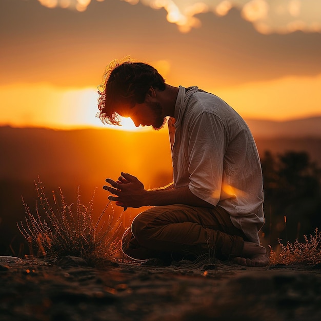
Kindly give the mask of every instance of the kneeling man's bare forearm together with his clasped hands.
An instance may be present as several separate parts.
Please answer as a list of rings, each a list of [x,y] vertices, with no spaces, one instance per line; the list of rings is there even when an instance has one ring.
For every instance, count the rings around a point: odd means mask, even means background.
[[[172,204],[186,204],[199,207],[213,207],[213,205],[205,202],[195,196],[188,186],[171,189],[145,190],[144,185],[137,177],[130,174],[122,173],[127,180],[127,184],[117,183],[107,178],[106,182],[110,186],[104,186],[104,189],[113,194],[108,198],[115,200],[124,208],[141,207],[141,206],[160,206]]]

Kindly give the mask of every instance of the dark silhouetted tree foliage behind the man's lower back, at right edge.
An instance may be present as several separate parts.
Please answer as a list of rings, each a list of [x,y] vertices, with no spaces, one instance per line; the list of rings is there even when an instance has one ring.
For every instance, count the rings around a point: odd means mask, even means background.
[[[321,169],[306,152],[287,151],[261,160],[266,225],[271,245],[295,240],[321,227]]]

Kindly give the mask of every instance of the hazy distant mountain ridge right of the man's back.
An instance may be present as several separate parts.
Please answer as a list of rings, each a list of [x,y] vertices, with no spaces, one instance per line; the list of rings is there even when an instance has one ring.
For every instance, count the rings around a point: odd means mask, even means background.
[[[250,118],[246,118],[245,121],[250,127],[254,137],[321,138],[321,116],[300,118],[283,122]]]

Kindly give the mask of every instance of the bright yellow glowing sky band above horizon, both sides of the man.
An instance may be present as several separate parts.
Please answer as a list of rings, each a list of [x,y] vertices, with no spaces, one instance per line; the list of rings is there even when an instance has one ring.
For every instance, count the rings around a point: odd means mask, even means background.
[[[173,84],[169,62],[158,61],[152,65],[166,75],[169,84]],[[285,121],[320,115],[321,74],[220,88],[211,88],[210,79],[202,79],[202,82],[208,85],[205,87],[200,84],[200,88],[224,99],[246,119]],[[97,97],[96,88],[64,88],[46,84],[0,86],[0,101],[5,107],[0,114],[0,126],[56,129],[101,127],[122,131],[152,131],[150,127],[136,128],[129,118],[123,119],[123,126],[104,125],[96,117]]]

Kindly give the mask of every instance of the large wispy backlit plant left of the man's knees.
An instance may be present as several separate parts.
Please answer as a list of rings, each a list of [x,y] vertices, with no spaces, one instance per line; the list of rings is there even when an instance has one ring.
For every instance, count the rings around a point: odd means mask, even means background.
[[[80,200],[79,187],[77,202],[74,206],[66,204],[62,190],[59,189],[60,205],[53,195],[55,208],[52,208],[46,197],[42,182],[35,183],[37,191],[36,215],[30,212],[28,205],[23,200],[26,210],[25,223],[17,223],[19,231],[28,240],[29,249],[35,245],[38,255],[48,255],[59,258],[65,255],[79,256],[94,260],[111,259],[120,251],[119,234],[121,232],[121,216],[114,222],[114,212],[108,214],[103,220],[110,202],[99,215],[97,222],[92,219],[93,198],[89,206],[85,207]],[[75,212],[72,212],[75,208]],[[45,217],[42,216],[43,212]],[[107,215],[107,214],[106,214]],[[33,255],[32,252],[30,252]]]

